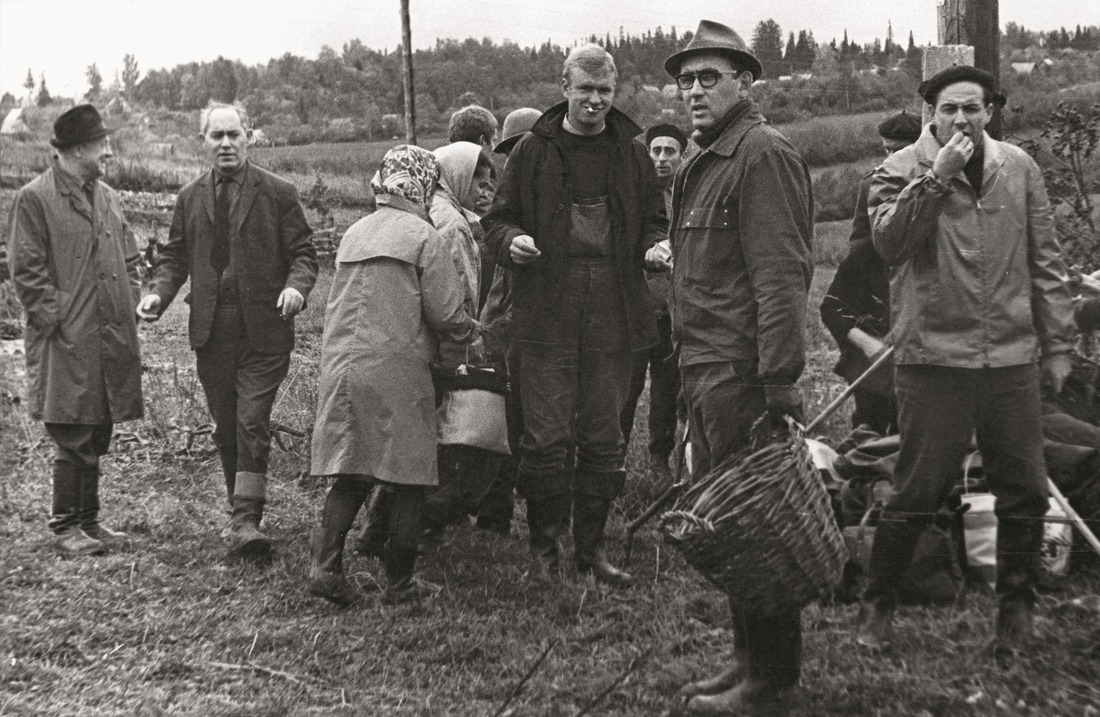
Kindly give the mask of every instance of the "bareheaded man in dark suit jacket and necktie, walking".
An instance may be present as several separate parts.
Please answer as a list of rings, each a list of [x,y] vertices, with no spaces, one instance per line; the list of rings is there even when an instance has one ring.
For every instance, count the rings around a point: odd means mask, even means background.
[[[229,556],[265,558],[272,407],[290,364],[294,317],[317,279],[317,253],[297,190],[249,162],[244,108],[211,102],[201,136],[213,168],[180,190],[138,309],[155,321],[190,276],[188,333],[232,508]]]

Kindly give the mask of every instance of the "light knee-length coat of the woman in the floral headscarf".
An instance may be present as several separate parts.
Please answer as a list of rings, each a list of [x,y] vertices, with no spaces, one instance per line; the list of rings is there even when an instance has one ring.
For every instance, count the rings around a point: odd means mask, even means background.
[[[348,230],[324,311],[312,474],[436,485],[439,338],[469,341],[475,321],[450,252],[413,202],[377,196]]]

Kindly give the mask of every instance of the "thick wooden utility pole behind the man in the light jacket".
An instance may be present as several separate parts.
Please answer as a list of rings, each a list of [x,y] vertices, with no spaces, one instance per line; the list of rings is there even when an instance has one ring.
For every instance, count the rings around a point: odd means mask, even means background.
[[[1001,84],[1001,29],[998,0],[941,0],[937,42],[941,45],[970,45],[974,47],[974,66],[993,76]],[[937,67],[932,74],[946,69]],[[925,70],[928,69],[925,57]],[[931,77],[925,74],[925,79]],[[1001,139],[1001,108],[993,107],[993,118],[986,131],[994,140]]]

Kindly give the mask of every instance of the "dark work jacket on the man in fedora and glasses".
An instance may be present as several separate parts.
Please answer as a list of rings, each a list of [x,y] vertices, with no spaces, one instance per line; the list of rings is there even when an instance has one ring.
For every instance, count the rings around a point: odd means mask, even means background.
[[[672,192],[672,339],[680,364],[739,362],[766,385],[805,366],[813,279],[810,170],[756,104],[684,161]]]

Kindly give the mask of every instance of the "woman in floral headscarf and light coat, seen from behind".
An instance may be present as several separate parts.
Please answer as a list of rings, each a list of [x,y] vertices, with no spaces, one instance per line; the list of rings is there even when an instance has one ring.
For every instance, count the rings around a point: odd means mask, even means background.
[[[377,210],[343,235],[324,313],[312,474],[336,476],[311,539],[309,592],[354,599],[343,575],[348,530],[375,482],[393,501],[383,554],[386,602],[422,596],[415,581],[425,486],[437,484],[428,364],[440,337],[477,339],[454,262],[428,222],[439,164],[399,145],[371,183]]]

